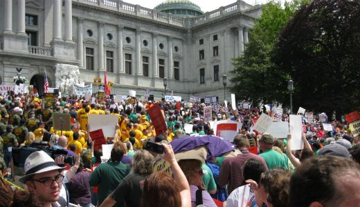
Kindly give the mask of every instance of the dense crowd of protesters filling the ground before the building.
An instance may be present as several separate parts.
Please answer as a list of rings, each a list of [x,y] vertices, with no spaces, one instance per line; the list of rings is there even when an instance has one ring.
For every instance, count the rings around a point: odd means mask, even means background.
[[[161,134],[147,113],[154,104],[168,127]],[[271,111],[222,103],[213,108],[213,121],[241,126],[231,137],[233,150],[199,159],[204,152],[195,148],[192,157],[179,159],[173,141],[215,135],[204,120],[205,106],[75,96],[57,97],[49,106],[35,95],[9,91],[0,97],[0,207],[359,206],[359,136],[348,123],[332,121],[326,131],[322,121],[303,117],[303,150],[291,150],[290,134],[278,139],[253,130],[262,113],[275,120]],[[70,115],[71,130],[54,128],[55,113]],[[89,115],[118,116],[114,136],[105,137],[113,145],[108,160],[94,149]],[[171,170],[154,167],[159,160]]]

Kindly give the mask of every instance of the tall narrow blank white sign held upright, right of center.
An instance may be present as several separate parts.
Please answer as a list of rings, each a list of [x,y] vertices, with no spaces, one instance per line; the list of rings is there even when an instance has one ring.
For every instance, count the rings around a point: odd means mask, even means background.
[[[302,150],[303,139],[301,134],[303,133],[303,123],[300,115],[290,115],[289,117],[289,132],[291,134],[291,150]]]

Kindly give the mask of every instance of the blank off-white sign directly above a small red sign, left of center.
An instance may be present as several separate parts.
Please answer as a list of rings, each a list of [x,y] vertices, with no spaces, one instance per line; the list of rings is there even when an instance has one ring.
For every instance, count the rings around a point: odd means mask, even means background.
[[[89,115],[88,119],[89,131],[101,128],[105,137],[114,137],[118,124],[117,115]]]

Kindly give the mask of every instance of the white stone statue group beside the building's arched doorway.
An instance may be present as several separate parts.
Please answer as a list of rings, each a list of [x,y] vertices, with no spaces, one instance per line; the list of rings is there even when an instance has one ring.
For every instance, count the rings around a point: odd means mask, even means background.
[[[55,87],[59,88],[62,94],[72,95],[73,85],[84,86],[84,81],[80,79],[78,66],[57,64],[55,71]]]

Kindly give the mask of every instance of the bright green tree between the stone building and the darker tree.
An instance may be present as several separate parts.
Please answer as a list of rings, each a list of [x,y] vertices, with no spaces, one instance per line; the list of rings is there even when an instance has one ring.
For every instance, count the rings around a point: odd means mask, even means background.
[[[273,63],[274,46],[280,30],[294,16],[300,6],[309,1],[293,1],[282,7],[279,2],[267,3],[262,8],[262,15],[255,20],[249,30],[249,44],[246,45],[244,56],[233,61],[235,70],[231,79],[235,95],[253,103],[264,101],[284,102],[287,95],[289,75]]]

